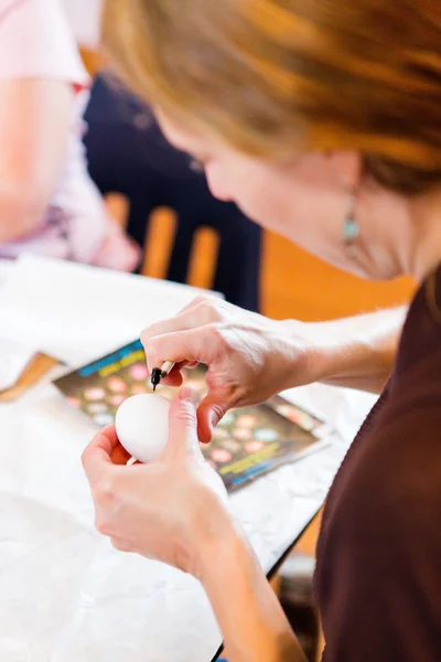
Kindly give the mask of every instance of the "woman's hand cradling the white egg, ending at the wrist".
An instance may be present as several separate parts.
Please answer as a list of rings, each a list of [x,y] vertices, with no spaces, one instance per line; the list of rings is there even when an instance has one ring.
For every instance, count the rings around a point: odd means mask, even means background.
[[[169,430],[161,456],[149,465],[126,466],[129,456],[109,426],[85,449],[83,466],[96,526],[114,547],[197,577],[205,546],[232,530],[233,521],[222,480],[201,452],[195,397],[189,388],[172,403]]]

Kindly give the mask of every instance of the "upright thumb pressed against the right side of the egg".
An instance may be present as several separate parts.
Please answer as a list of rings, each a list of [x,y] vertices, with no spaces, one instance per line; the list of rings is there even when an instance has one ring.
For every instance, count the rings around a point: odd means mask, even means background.
[[[170,406],[169,440],[164,455],[200,453],[197,439],[196,394],[191,388],[182,388]]]

